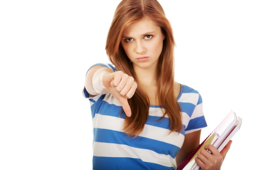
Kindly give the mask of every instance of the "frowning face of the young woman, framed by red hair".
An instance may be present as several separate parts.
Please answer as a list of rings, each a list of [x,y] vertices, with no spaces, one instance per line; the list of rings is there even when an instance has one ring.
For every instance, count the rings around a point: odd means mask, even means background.
[[[150,18],[143,18],[126,27],[121,44],[135,69],[156,68],[163,40],[161,28]]]

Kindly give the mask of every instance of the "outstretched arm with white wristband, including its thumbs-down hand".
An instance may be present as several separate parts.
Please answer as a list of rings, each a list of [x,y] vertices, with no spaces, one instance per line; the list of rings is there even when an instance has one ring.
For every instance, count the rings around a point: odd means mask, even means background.
[[[107,67],[93,66],[86,74],[85,88],[92,96],[110,92],[120,102],[126,115],[131,116],[127,99],[130,99],[137,89],[133,77],[122,71],[114,72]]]

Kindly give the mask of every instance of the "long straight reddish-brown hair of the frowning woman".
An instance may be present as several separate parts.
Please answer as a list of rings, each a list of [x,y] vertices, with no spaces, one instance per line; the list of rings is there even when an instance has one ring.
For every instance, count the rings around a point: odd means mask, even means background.
[[[159,2],[157,0],[122,0],[117,6],[110,25],[106,40],[106,53],[117,70],[134,77],[136,81],[132,63],[120,42],[124,29],[144,17],[152,19],[165,35],[163,50],[159,56],[157,66],[157,95],[165,111],[163,117],[165,115],[169,117],[170,130],[180,132],[182,130],[181,108],[174,95],[173,52],[175,41],[171,24]],[[131,136],[137,136],[144,128],[150,107],[148,96],[139,84],[135,94],[131,99],[128,99],[128,102],[132,110],[132,116],[125,118],[124,131]]]

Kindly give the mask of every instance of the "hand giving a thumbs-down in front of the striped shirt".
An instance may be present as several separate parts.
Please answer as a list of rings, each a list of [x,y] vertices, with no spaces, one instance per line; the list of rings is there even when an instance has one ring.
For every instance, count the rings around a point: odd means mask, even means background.
[[[137,89],[134,78],[122,71],[116,71],[104,74],[102,81],[106,89],[120,102],[126,116],[130,117],[132,111],[127,99],[130,99]]]

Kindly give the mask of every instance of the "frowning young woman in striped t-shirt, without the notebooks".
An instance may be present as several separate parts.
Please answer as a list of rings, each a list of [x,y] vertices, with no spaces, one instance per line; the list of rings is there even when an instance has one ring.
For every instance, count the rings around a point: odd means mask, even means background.
[[[112,64],[90,67],[83,89],[94,170],[173,170],[200,144],[207,126],[202,98],[175,82],[174,46],[157,0],[120,2],[106,41]],[[220,170],[230,144],[222,152],[207,145],[195,161],[202,170]]]

